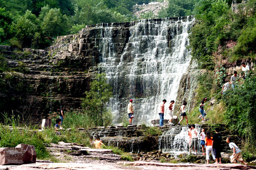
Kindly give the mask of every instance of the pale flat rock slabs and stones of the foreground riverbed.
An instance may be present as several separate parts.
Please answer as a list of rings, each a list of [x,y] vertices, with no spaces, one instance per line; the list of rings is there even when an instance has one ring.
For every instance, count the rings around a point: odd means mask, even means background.
[[[55,157],[55,163],[47,160],[37,160],[35,164],[23,165],[2,165],[0,170],[253,170],[256,166],[245,166],[241,164],[202,164],[198,163],[169,163],[175,158],[171,157],[169,153],[162,153],[161,151],[154,151],[150,153],[131,154],[132,156],[141,156],[139,160],[142,161],[123,161],[120,155],[116,155],[111,149],[94,149],[84,147],[77,143],[51,144],[47,146],[47,150]],[[150,160],[150,157],[162,157],[163,160]],[[180,156],[185,157],[185,155]],[[192,156],[195,159],[205,159],[202,155]],[[136,157],[134,157],[137,160]],[[188,158],[187,158],[188,159]],[[147,161],[145,161],[147,160]],[[168,162],[166,162],[168,161]],[[184,159],[184,161],[188,161]],[[200,163],[199,163],[200,162]]]

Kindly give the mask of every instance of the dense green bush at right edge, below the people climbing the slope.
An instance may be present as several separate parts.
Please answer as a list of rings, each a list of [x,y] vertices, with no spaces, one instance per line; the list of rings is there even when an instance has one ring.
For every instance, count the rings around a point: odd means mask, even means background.
[[[227,105],[225,114],[227,125],[246,138],[246,143],[250,144],[250,151],[254,153],[256,152],[255,89],[256,77],[250,76],[239,89],[230,91],[223,97]]]

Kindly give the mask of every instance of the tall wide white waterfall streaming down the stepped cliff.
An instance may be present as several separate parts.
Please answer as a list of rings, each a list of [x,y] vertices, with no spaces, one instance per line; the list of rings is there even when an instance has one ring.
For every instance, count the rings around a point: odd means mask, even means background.
[[[96,26],[95,42],[101,57],[98,66],[113,87],[109,105],[114,123],[128,119],[129,99],[134,101],[133,123],[150,125],[151,119],[159,118],[158,104],[163,99],[167,100],[167,113],[191,60],[186,46],[193,23],[192,16],[130,22],[124,48],[114,38],[116,24]]]

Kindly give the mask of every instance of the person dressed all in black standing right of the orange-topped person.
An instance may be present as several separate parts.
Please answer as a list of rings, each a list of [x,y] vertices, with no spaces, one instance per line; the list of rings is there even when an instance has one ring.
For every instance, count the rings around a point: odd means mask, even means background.
[[[214,151],[216,162],[215,164],[221,164],[221,135],[220,129],[216,127],[215,134],[212,138],[212,149]]]

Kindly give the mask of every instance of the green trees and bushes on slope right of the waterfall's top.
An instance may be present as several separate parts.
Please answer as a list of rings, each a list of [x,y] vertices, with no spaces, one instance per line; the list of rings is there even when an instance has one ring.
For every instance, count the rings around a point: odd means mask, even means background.
[[[189,47],[201,68],[213,70],[217,61],[213,54],[223,53],[230,62],[255,57],[256,0],[237,8],[233,12],[226,0],[203,0],[197,7],[200,21],[192,28]],[[235,46],[227,48],[229,42],[235,42]]]

